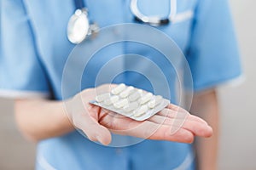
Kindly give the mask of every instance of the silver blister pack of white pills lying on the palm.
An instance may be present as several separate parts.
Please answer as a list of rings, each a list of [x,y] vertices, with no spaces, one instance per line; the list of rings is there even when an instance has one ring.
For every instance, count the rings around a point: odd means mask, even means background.
[[[144,121],[163,110],[170,101],[160,95],[121,83],[111,92],[97,94],[96,99],[90,103],[131,119]]]

